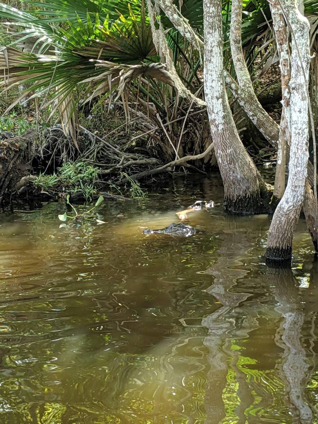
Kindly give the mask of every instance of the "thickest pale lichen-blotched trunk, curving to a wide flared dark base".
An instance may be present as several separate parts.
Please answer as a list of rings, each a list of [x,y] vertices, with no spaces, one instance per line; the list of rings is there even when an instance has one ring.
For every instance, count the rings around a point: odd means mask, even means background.
[[[221,3],[220,0],[204,0],[203,5],[204,92],[224,185],[224,208],[238,213],[265,212],[268,210],[268,187],[241,142],[226,96]]]

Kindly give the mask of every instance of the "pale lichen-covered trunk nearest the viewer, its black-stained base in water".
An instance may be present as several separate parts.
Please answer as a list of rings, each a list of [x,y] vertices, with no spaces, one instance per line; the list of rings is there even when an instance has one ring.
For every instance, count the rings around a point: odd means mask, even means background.
[[[308,20],[291,0],[280,0],[291,26],[290,160],[287,187],[268,232],[267,259],[290,259],[293,233],[304,201],[308,162],[308,72],[310,66]],[[305,75],[304,75],[305,73]]]

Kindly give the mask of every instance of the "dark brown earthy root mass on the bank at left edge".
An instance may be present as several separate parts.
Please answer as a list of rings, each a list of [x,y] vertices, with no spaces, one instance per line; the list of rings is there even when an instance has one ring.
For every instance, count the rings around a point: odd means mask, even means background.
[[[36,139],[31,128],[21,136],[0,134],[0,204],[9,201],[17,184],[29,175]]]

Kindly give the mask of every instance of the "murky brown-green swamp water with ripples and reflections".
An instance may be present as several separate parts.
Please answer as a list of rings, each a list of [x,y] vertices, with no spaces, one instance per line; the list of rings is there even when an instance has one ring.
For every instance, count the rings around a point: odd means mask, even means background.
[[[165,187],[169,186],[169,190]],[[267,215],[189,215],[220,180],[107,202],[59,229],[63,203],[0,217],[0,422],[316,423],[318,266],[301,221],[293,269],[268,269]],[[125,218],[118,218],[124,214]]]

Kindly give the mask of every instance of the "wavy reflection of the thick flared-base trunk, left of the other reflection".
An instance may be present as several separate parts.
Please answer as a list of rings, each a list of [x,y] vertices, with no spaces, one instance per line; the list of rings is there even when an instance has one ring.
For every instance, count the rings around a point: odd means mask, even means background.
[[[242,240],[243,237],[244,239]],[[217,424],[226,416],[222,396],[227,384],[229,357],[232,357],[231,366],[239,383],[237,395],[240,397],[241,402],[236,410],[239,423],[245,423],[245,409],[254,400],[246,375],[237,367],[240,351],[231,350],[231,336],[233,336],[234,332],[234,337],[246,338],[248,333],[258,326],[256,312],[250,307],[242,305],[250,295],[248,293],[230,291],[236,284],[235,280],[246,275],[246,271],[233,269],[232,267],[242,265],[241,259],[246,256],[248,246],[250,246],[250,243],[245,240],[243,234],[232,232],[224,240],[218,251],[218,261],[206,271],[206,273],[214,276],[214,284],[206,291],[212,294],[223,306],[202,320],[202,325],[209,329],[209,335],[204,339],[204,345],[209,348],[207,360],[210,365],[205,397],[205,408],[208,418],[206,418],[205,424]],[[240,324],[240,329],[236,327],[233,312],[231,312],[230,318],[226,318],[229,315],[229,311],[232,311],[239,304],[240,308],[234,313],[237,316],[246,316],[243,324]],[[242,311],[243,308],[244,311]]]

